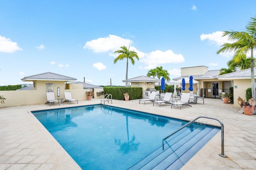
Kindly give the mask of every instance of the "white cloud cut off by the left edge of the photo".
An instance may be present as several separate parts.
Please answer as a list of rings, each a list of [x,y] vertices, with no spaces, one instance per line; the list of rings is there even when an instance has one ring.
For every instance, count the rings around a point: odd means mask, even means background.
[[[16,42],[12,42],[11,39],[0,36],[0,52],[13,53],[17,50],[22,49],[18,47]]]

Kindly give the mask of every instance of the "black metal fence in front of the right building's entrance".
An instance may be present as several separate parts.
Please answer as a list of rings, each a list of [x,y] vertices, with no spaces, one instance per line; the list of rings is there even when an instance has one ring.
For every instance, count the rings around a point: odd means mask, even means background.
[[[200,96],[205,95],[205,98],[214,98],[221,99],[221,95],[225,93],[229,93],[229,89],[221,89],[221,88],[201,88]]]

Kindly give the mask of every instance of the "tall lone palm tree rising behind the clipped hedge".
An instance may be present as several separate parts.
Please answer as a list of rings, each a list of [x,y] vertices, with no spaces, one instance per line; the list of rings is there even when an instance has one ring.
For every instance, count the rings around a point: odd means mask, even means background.
[[[126,62],[126,76],[125,76],[125,86],[128,86],[128,60],[130,59],[130,61],[132,62],[132,65],[135,64],[135,59],[139,60],[139,57],[137,55],[137,53],[135,51],[129,51],[130,49],[130,45],[129,48],[127,49],[127,47],[122,46],[120,47],[122,50],[116,50],[114,51],[114,53],[119,53],[120,55],[118,55],[118,57],[116,57],[114,59],[114,64],[116,64],[116,62],[118,60],[123,60],[123,59],[127,59]]]

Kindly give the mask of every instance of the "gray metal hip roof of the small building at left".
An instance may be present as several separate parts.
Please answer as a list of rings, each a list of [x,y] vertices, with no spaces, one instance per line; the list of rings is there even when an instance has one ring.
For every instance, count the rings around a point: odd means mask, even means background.
[[[53,72],[45,72],[41,74],[35,74],[32,76],[26,76],[22,78],[22,81],[34,81],[34,80],[54,80],[54,81],[65,81],[65,82],[71,82],[71,81],[76,81],[77,78],[72,78],[68,76],[63,76],[60,74],[56,74]]]

